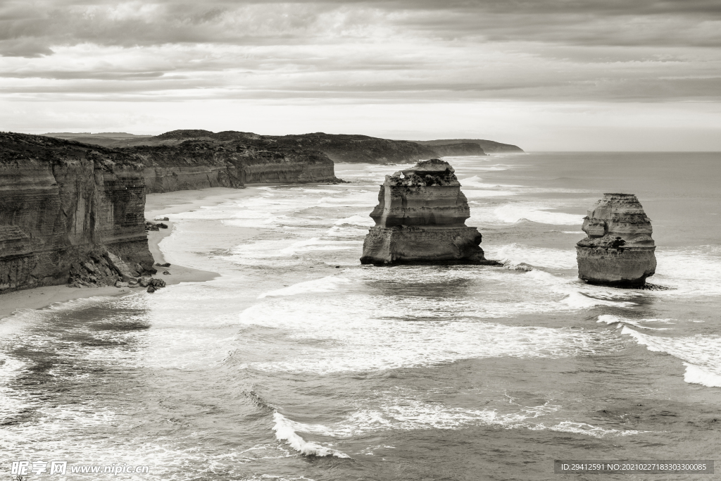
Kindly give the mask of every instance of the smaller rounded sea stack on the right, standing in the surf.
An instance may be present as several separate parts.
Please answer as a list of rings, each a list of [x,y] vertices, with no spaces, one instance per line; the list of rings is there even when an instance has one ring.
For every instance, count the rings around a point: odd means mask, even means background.
[[[655,273],[651,221],[633,194],[603,194],[583,219],[578,277],[589,284],[641,287]]]

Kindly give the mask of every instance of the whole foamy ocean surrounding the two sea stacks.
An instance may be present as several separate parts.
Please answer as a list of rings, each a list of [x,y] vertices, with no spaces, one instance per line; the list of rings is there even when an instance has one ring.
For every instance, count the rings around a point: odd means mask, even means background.
[[[351,183],[169,214],[168,262],[216,280],[0,319],[1,477],[23,460],[68,462],[32,479],[278,481],[719,461],[721,154],[446,160],[503,267],[361,266],[379,185],[402,167],[337,164]],[[638,196],[648,281],[667,289],[577,278],[583,216],[607,192]],[[149,472],[70,474],[83,464]]]

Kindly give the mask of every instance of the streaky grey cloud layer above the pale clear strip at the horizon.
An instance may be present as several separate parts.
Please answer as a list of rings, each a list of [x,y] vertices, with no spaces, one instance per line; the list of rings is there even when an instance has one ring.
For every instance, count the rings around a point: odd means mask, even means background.
[[[717,105],[721,4],[10,0],[0,4],[0,96]]]

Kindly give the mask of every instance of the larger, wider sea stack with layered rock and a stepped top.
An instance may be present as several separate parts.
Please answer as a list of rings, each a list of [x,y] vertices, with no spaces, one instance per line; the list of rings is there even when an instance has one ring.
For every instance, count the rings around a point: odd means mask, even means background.
[[[486,264],[481,234],[466,226],[468,200],[448,162],[418,162],[386,175],[363,243],[361,264]]]

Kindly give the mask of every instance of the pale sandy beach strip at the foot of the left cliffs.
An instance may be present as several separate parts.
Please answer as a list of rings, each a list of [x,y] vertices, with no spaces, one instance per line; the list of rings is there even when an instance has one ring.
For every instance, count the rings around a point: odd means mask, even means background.
[[[258,185],[260,186],[260,185]],[[227,187],[210,187],[200,190],[177,190],[167,193],[153,193],[146,195],[145,218],[154,221],[156,217],[167,216],[173,213],[191,212],[203,206],[217,205],[218,203],[235,198],[250,197],[257,194],[256,185],[244,189],[231,189]],[[167,229],[148,232],[148,248],[156,263],[164,264],[164,253],[160,243],[172,235],[174,224],[172,221],[162,221]],[[155,278],[162,279],[167,285],[182,282],[205,282],[221,276],[219,273],[208,270],[188,268],[183,265],[171,265],[169,268],[154,266],[158,273]],[[169,275],[163,275],[163,272]],[[19,309],[43,309],[51,304],[72,301],[74,299],[87,299],[96,296],[127,296],[134,292],[145,291],[146,288],[102,286],[97,288],[76,288],[67,284],[58,286],[43,286],[22,291],[10,292],[0,296],[0,318],[12,315]]]

